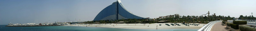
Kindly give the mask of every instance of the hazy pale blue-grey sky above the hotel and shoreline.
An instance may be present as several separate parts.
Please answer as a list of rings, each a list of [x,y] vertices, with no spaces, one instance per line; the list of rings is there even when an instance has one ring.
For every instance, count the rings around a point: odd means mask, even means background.
[[[239,17],[256,15],[256,0],[121,0],[124,7],[140,17],[166,15],[210,15]],[[92,21],[116,0],[0,0],[0,25]]]

